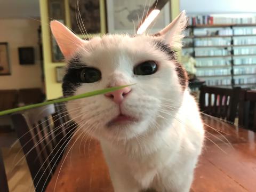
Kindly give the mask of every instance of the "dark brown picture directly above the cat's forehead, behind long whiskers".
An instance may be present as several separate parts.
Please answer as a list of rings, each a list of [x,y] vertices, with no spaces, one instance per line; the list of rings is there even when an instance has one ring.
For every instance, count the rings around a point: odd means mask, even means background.
[[[69,0],[69,12],[71,29],[76,34],[101,33],[100,0]]]

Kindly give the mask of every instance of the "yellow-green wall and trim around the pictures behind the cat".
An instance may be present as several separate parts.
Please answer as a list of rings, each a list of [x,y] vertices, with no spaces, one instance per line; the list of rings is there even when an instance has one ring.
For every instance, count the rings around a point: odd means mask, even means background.
[[[68,0],[64,0],[66,5],[66,25],[70,27]],[[47,9],[47,1],[39,0],[42,22],[42,36],[43,36],[43,54],[44,54],[44,73],[45,73],[45,87],[46,98],[55,99],[62,96],[61,83],[56,82],[55,67],[65,66],[63,62],[52,62],[51,58],[51,42],[50,42],[50,26]],[[100,0],[100,7],[104,7],[104,0]],[[171,1],[171,18],[174,19],[179,14],[179,0]],[[100,9],[101,17],[101,34],[106,33],[106,17],[105,9]]]

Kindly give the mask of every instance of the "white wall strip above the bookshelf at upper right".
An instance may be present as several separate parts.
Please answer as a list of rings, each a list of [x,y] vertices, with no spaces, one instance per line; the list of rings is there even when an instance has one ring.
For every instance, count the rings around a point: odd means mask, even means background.
[[[256,13],[256,0],[180,0],[187,13]]]

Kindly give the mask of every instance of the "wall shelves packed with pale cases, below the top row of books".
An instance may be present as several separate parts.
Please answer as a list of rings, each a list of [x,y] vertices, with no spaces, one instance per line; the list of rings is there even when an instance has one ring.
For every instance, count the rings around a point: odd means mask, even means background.
[[[182,54],[196,59],[206,85],[256,89],[256,24],[190,25]]]

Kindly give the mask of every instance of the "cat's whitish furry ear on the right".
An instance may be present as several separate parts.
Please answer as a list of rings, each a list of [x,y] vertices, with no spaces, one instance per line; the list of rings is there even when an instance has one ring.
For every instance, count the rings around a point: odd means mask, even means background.
[[[172,47],[181,48],[181,39],[183,35],[181,32],[187,26],[187,17],[185,10],[182,11],[177,18],[175,18],[169,25],[164,29],[154,34],[153,36],[162,37],[167,44]]]

